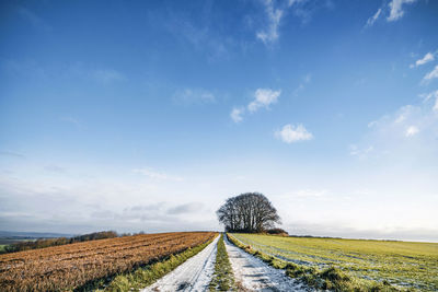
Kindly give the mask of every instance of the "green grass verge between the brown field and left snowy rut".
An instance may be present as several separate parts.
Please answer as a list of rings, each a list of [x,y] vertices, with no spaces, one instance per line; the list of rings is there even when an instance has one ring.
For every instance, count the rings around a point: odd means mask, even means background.
[[[216,236],[215,236],[216,237]],[[155,282],[161,277],[174,270],[177,266],[189,259],[191,257],[197,255],[207,245],[209,245],[215,238],[188,248],[181,254],[171,255],[162,261],[148,265],[137,270],[116,276],[102,290],[90,289],[93,291],[138,291]],[[96,285],[102,287],[103,283],[96,283]]]

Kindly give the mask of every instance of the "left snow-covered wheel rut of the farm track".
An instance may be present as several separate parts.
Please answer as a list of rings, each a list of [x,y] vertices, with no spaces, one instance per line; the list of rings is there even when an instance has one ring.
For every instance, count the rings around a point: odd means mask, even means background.
[[[207,291],[215,271],[216,248],[220,236],[196,256],[158,280],[142,292]]]

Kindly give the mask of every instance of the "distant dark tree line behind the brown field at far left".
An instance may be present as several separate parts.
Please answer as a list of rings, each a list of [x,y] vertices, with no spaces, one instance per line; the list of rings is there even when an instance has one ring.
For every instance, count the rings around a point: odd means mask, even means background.
[[[15,253],[28,249],[37,249],[44,248],[49,246],[57,246],[57,245],[65,245],[65,244],[72,244],[72,243],[80,243],[80,242],[88,242],[88,241],[96,241],[96,240],[104,240],[104,238],[114,238],[117,237],[117,233],[114,231],[101,231],[101,232],[93,232],[90,234],[78,235],[74,237],[58,237],[58,238],[41,238],[36,241],[26,241],[26,242],[19,242],[14,244],[7,245],[3,249],[3,253]]]

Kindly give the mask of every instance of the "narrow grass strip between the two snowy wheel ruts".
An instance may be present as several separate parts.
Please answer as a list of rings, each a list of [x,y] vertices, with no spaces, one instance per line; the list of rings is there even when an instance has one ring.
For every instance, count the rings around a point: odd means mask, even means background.
[[[216,254],[215,273],[212,276],[210,291],[230,291],[234,288],[234,276],[228,258],[223,234],[218,242],[218,252]]]

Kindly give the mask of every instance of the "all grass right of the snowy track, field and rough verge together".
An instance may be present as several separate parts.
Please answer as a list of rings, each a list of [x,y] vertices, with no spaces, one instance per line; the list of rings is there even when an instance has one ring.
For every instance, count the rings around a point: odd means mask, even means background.
[[[275,265],[288,265],[289,276],[310,285],[335,287],[339,291],[355,287],[374,291],[438,290],[438,244],[435,243],[232,236],[242,246],[251,245],[251,253],[258,253],[266,260],[274,257]]]

